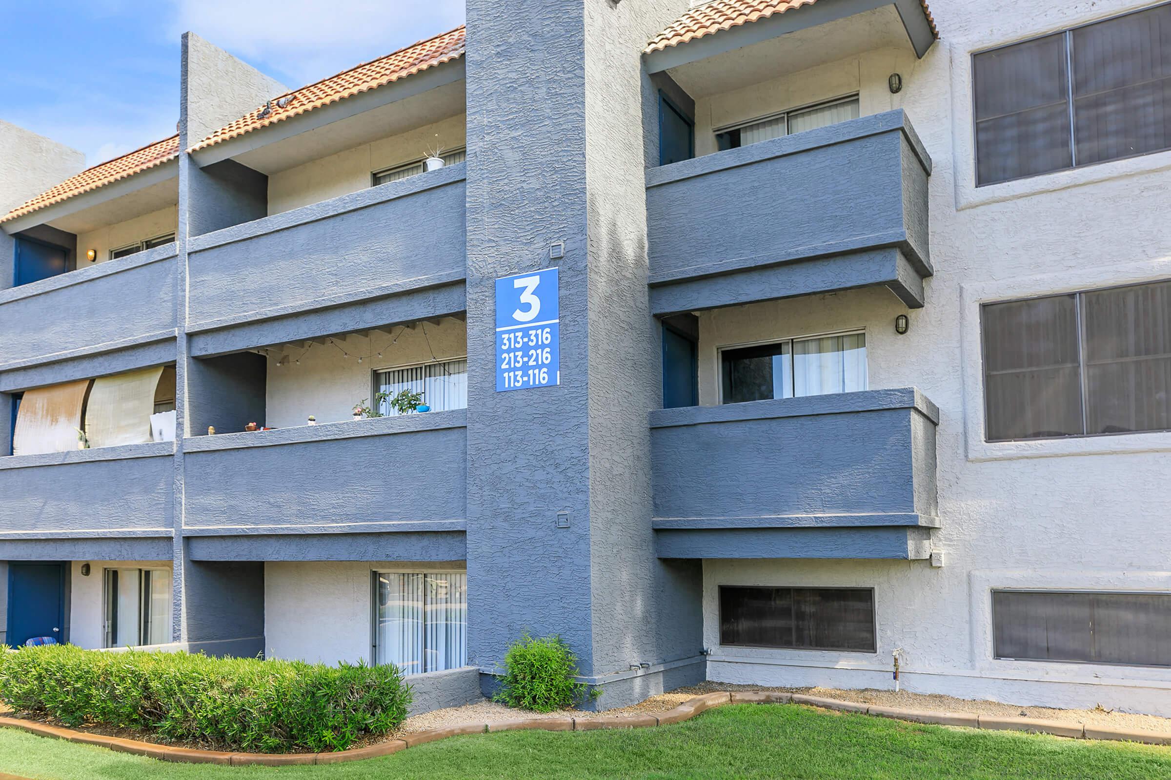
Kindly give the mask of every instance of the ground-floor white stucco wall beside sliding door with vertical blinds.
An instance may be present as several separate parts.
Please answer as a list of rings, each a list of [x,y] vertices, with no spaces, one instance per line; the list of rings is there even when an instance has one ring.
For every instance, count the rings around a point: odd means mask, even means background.
[[[265,655],[309,663],[371,661],[372,572],[463,572],[464,561],[265,564]]]

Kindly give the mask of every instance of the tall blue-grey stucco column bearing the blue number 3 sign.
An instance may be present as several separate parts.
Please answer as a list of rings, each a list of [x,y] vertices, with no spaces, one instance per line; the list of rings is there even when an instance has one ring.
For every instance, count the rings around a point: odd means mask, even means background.
[[[600,707],[704,675],[699,564],[653,552],[648,427],[662,374],[639,54],[685,8],[467,4],[471,655],[492,668],[522,631],[560,634]],[[497,392],[494,282],[550,265],[561,384]]]

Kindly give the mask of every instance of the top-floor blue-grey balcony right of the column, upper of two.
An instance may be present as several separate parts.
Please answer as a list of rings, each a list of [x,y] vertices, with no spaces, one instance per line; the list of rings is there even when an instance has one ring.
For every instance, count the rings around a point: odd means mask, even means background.
[[[648,170],[653,313],[878,284],[922,306],[930,173],[902,110]]]

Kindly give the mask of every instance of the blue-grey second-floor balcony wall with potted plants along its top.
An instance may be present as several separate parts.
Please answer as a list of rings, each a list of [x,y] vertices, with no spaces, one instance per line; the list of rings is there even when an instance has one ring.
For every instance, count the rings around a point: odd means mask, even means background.
[[[352,559],[368,541],[369,560],[463,560],[466,426],[459,409],[187,439],[191,554]]]

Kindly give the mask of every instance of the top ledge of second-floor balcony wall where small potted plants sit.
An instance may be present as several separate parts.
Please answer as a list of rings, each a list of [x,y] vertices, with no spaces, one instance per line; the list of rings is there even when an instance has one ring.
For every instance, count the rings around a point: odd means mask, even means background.
[[[416,414],[403,414],[393,417],[347,420],[344,422],[326,422],[316,426],[299,426],[296,428],[276,428],[273,430],[215,434],[214,436],[192,436],[183,440],[183,449],[185,453],[212,453],[227,449],[252,449],[256,447],[280,447],[282,444],[306,444],[310,442],[362,439],[365,436],[388,436],[393,434],[416,433],[420,430],[443,430],[446,428],[466,427],[467,409],[453,409],[451,412],[423,412]]]

